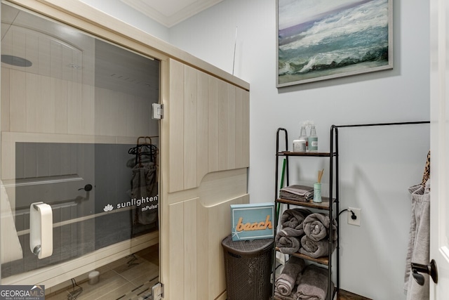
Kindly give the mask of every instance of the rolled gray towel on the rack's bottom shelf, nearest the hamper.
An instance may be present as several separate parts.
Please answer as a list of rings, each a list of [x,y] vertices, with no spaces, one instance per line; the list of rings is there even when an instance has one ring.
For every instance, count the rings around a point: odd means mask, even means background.
[[[276,278],[276,289],[279,294],[288,296],[292,293],[297,277],[302,270],[304,270],[304,268],[304,259],[300,259],[296,256],[290,256],[290,259],[286,262],[281,274],[278,278]]]

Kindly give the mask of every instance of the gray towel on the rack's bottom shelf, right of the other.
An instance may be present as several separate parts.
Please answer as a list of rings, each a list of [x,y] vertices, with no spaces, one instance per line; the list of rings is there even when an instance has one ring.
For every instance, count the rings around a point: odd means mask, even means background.
[[[307,266],[297,285],[295,300],[326,300],[327,294],[328,269],[315,265]]]

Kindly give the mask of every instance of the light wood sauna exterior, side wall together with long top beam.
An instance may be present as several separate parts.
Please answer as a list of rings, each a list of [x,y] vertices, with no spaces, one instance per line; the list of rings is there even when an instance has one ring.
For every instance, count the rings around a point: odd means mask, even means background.
[[[161,60],[164,299],[225,299],[229,204],[249,202],[249,84],[81,1],[12,2]],[[2,126],[8,92],[2,87]]]

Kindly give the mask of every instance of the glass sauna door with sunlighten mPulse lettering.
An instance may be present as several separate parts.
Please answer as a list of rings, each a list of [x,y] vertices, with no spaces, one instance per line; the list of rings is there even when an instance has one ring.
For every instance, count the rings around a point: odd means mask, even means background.
[[[159,242],[152,103],[158,60],[1,4],[1,285],[71,285]]]

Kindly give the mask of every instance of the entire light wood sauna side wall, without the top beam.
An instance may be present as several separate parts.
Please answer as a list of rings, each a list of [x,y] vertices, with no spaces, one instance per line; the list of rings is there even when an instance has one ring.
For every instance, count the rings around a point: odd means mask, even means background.
[[[249,92],[176,60],[168,70],[161,281],[167,299],[217,299],[229,205],[249,202]]]

